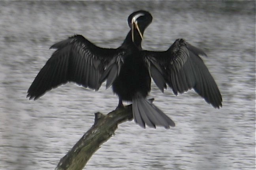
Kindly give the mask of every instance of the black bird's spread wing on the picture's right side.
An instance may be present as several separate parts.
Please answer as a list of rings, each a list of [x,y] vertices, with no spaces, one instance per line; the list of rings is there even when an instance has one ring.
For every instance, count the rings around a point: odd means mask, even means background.
[[[201,55],[206,56],[183,39],[177,39],[164,52],[143,51],[151,77],[162,92],[166,84],[175,95],[193,88],[207,103],[219,108],[222,96]]]

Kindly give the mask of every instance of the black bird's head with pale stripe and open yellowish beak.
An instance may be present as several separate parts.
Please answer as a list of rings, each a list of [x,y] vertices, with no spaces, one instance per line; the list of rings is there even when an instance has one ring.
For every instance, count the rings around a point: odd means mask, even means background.
[[[147,11],[136,11],[128,17],[128,25],[132,32],[132,41],[137,37],[143,40],[143,33],[147,26],[152,22],[152,15]]]

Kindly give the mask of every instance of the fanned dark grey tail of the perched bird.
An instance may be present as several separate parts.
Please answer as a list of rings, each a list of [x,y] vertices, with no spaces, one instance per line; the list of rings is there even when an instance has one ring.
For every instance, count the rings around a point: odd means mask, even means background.
[[[152,102],[143,97],[136,97],[132,100],[132,113],[134,121],[139,126],[145,128],[145,124],[149,127],[175,126],[173,120],[166,116],[160,109],[158,109]]]

